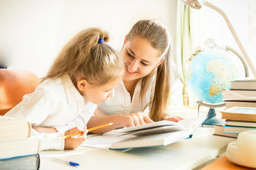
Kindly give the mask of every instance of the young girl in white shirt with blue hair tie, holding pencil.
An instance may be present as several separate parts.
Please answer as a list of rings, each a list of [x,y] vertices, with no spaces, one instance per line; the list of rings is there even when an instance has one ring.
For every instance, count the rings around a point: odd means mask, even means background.
[[[108,40],[107,33],[98,28],[75,35],[36,90],[23,96],[23,101],[6,113],[31,123],[33,135],[41,139],[41,150],[78,147],[87,131],[65,141],[60,136],[84,130],[97,104],[114,96],[113,89],[122,80],[124,62],[107,45]]]

